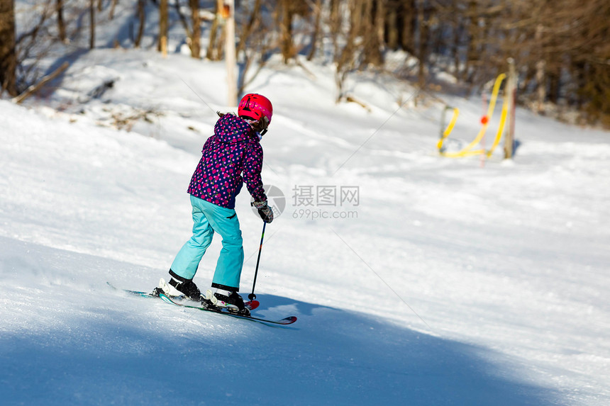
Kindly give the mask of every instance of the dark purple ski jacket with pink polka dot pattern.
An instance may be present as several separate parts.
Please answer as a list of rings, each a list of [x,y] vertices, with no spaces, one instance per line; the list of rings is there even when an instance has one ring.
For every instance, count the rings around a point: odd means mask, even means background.
[[[224,208],[235,208],[235,196],[245,183],[255,201],[266,201],[262,188],[262,147],[245,120],[225,114],[204,144],[189,193]]]

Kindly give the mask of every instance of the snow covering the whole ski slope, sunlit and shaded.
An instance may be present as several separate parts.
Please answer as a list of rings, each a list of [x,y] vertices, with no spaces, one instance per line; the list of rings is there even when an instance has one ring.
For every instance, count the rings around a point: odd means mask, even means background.
[[[608,132],[518,110],[513,161],[443,158],[443,106],[400,107],[414,89],[366,76],[348,86],[370,112],[336,105],[331,68],[304,64],[248,87],[274,103],[262,176],[287,201],[257,315],[290,327],[106,286],[151,290],[189,238],[192,170],[234,110],[222,63],[94,50],[45,99],[0,101],[3,404],[609,404]],[[482,102],[442,97],[467,144]],[[301,204],[318,188],[358,201]],[[262,222],[245,192],[237,210],[248,293]]]

